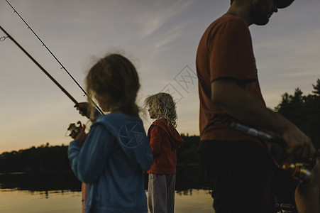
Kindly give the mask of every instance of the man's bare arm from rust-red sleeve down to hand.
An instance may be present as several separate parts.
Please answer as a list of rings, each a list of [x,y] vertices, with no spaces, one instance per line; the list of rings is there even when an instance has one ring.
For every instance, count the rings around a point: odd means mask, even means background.
[[[280,133],[287,142],[287,152],[297,158],[310,158],[315,153],[311,140],[297,126],[253,99],[236,80],[211,82],[211,100],[234,118],[250,126]]]

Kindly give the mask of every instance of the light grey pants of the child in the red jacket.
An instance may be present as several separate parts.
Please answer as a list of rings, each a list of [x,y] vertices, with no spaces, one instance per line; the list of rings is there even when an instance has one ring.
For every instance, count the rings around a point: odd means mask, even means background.
[[[151,213],[175,212],[175,174],[149,174],[148,207]]]

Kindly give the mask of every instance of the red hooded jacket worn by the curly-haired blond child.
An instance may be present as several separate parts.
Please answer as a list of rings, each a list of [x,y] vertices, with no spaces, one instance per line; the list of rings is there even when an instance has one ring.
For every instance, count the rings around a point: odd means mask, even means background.
[[[147,173],[174,174],[177,173],[176,148],[180,148],[183,140],[172,124],[165,119],[159,119],[151,124],[148,138],[153,151],[153,163]]]

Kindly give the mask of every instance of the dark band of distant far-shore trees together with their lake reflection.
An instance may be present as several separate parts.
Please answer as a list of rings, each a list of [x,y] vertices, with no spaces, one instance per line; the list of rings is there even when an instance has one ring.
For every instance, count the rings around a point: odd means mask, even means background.
[[[177,150],[177,190],[202,188],[202,168],[197,161],[199,136],[185,136],[184,145]],[[0,187],[19,190],[81,190],[81,183],[70,168],[68,146],[49,143],[0,155]],[[147,186],[145,175],[145,187]],[[2,186],[1,186],[2,185]]]

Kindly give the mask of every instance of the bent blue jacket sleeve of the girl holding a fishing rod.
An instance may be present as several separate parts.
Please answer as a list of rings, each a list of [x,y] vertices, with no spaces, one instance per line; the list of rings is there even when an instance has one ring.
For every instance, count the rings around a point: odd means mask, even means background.
[[[71,168],[77,178],[85,183],[98,180],[106,167],[114,143],[114,136],[101,124],[92,126],[81,149],[79,141],[72,141],[68,155]]]

